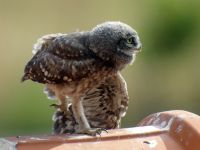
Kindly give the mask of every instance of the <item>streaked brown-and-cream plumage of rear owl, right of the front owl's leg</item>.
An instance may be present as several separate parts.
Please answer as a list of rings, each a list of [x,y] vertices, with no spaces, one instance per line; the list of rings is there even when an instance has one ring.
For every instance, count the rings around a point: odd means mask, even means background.
[[[86,93],[83,107],[92,127],[118,128],[128,107],[125,80],[119,73],[107,78],[97,88]]]

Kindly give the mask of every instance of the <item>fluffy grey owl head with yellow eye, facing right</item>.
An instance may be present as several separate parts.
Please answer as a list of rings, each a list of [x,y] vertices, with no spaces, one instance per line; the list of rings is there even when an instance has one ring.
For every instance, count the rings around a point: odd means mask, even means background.
[[[141,49],[137,32],[122,22],[105,22],[90,31],[89,48],[104,61],[125,66]]]

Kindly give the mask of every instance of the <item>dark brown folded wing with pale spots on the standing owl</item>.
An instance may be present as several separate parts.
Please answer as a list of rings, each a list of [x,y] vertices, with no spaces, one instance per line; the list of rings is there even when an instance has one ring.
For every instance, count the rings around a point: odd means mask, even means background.
[[[95,56],[86,46],[87,34],[46,35],[34,45],[33,58],[25,67],[23,80],[63,83],[79,80],[95,68]]]

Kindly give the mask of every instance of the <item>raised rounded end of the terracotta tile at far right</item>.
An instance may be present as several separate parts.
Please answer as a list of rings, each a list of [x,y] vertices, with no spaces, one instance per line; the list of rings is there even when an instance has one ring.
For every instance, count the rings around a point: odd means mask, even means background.
[[[168,128],[170,136],[185,149],[200,149],[200,116],[182,110],[152,114],[139,123],[139,126]]]

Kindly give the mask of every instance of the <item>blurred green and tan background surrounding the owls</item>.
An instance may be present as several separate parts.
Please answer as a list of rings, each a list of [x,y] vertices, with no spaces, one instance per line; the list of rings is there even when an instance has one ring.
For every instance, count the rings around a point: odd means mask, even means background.
[[[20,83],[36,40],[109,20],[135,28],[143,44],[123,71],[130,105],[122,126],[159,111],[200,114],[199,6],[197,0],[0,0],[0,136],[51,133],[53,102],[42,85]]]

